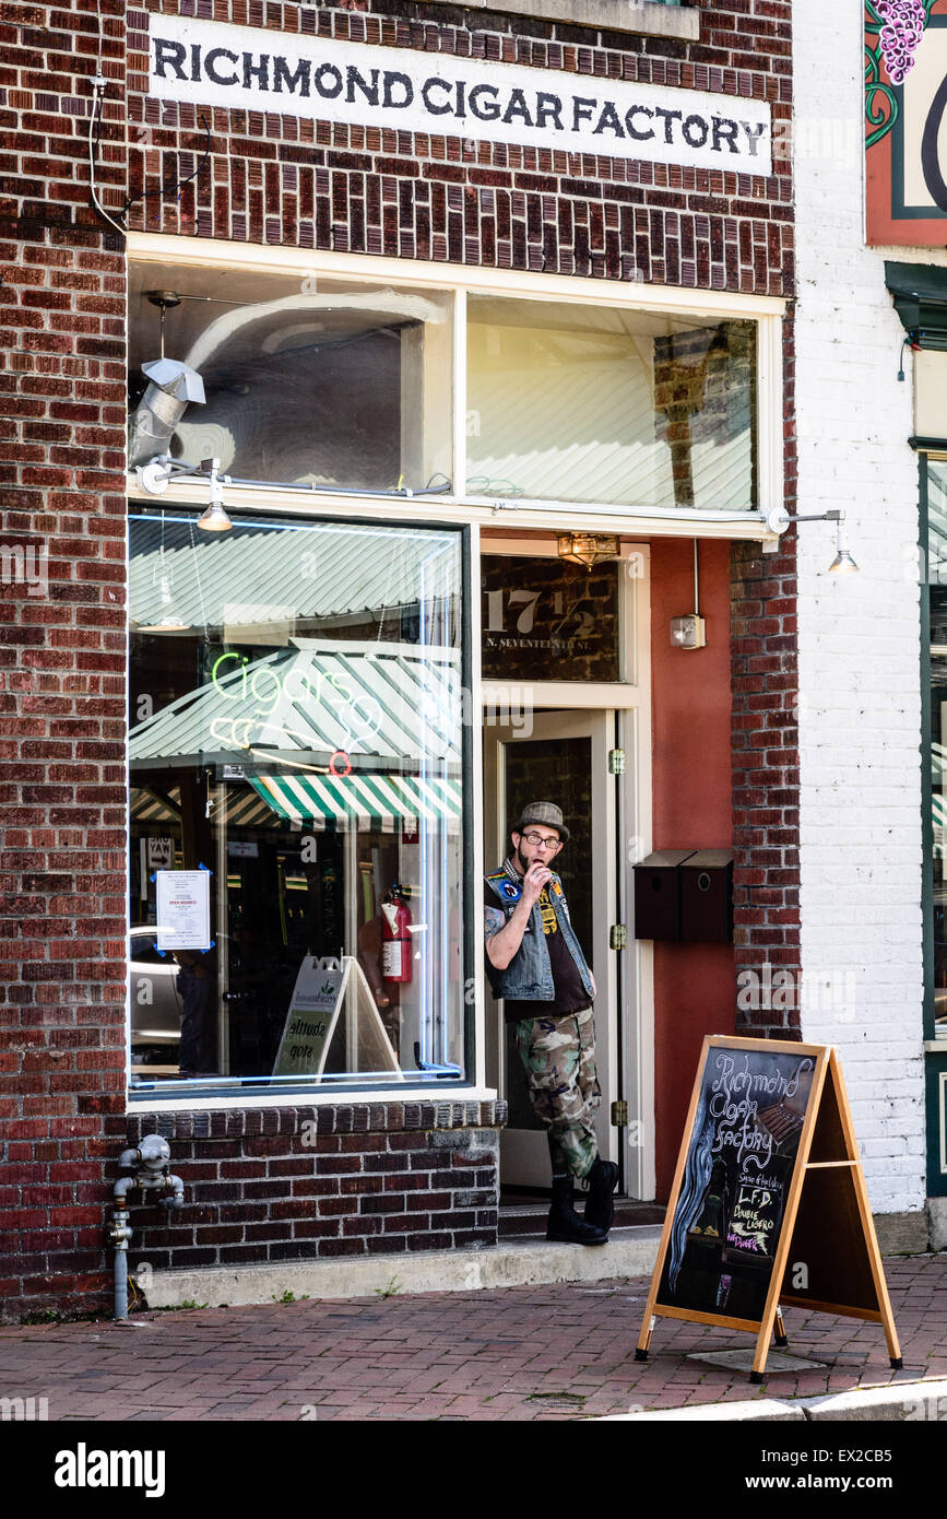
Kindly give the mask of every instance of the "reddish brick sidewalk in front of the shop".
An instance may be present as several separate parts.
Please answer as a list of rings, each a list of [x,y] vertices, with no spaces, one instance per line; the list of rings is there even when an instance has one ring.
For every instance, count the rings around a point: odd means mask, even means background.
[[[789,1309],[789,1350],[826,1370],[760,1387],[687,1360],[751,1337],[659,1320],[634,1361],[647,1281],[140,1315],[137,1328],[0,1329],[0,1396],[49,1419],[549,1420],[947,1376],[947,1253],[886,1262],[905,1370],[879,1325]]]

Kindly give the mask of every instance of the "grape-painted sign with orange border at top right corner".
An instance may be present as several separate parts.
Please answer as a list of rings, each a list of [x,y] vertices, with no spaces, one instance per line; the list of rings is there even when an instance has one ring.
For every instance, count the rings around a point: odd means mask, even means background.
[[[947,0],[865,0],[867,231],[947,243]]]

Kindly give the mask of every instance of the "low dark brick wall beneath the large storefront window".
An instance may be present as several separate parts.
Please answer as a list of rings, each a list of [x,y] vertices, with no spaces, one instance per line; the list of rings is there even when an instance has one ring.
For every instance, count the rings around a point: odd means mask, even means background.
[[[496,1244],[505,1103],[338,1103],[141,1113],[185,1200],[132,1205],[129,1270],[404,1255]],[[147,1287],[146,1287],[147,1293]]]

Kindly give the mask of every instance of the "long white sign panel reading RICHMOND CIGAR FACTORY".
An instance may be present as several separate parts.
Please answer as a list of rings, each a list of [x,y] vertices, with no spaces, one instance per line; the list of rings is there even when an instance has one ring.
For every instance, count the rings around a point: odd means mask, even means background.
[[[765,100],[150,17],[149,94],[190,105],[769,175]]]

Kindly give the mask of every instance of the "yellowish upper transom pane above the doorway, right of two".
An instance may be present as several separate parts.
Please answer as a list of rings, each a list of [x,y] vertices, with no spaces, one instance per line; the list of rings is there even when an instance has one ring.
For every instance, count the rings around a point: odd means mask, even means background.
[[[756,327],[470,296],[467,489],[756,504]]]

